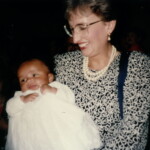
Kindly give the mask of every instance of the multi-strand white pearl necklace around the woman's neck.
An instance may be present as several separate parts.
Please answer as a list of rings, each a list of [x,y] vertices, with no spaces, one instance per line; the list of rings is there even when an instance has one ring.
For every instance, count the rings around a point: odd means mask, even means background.
[[[104,67],[103,69],[101,69],[100,71],[96,71],[96,72],[91,71],[88,68],[89,59],[88,59],[88,57],[84,56],[83,57],[83,73],[84,73],[84,77],[87,80],[89,80],[89,81],[97,81],[107,71],[107,69],[110,66],[111,62],[113,61],[115,55],[116,55],[116,48],[114,46],[112,46],[112,52],[111,52],[111,56],[110,56],[110,59],[109,59],[109,62],[107,64],[107,66]]]

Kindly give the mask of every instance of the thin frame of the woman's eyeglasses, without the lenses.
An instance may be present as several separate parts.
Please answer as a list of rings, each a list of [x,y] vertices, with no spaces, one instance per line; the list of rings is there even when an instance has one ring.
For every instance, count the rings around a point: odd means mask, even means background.
[[[103,20],[98,20],[98,21],[95,21],[95,22],[91,22],[91,23],[89,23],[89,24],[78,24],[78,25],[76,25],[74,28],[71,28],[71,30],[74,31],[76,27],[79,27],[79,26],[81,26],[81,25],[85,25],[84,30],[86,30],[86,29],[88,29],[89,26],[91,26],[91,25],[93,25],[93,24],[96,24],[96,23],[99,23],[99,22],[101,22],[101,21],[103,21]],[[73,36],[73,32],[70,33],[70,31],[67,29],[67,26],[66,26],[66,25],[64,25],[64,30],[65,30],[65,32],[67,33],[67,35],[69,35],[70,37]]]

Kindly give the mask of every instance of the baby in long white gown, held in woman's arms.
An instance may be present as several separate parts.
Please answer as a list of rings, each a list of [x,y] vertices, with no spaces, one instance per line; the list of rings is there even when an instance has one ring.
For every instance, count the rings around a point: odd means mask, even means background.
[[[6,150],[91,150],[102,147],[99,131],[75,105],[66,85],[39,59],[23,62],[17,72],[21,91],[6,107]]]

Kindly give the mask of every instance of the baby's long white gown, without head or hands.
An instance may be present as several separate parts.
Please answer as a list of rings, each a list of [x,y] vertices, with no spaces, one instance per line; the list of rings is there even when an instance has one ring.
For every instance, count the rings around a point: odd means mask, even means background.
[[[99,131],[87,113],[75,105],[73,92],[59,82],[57,94],[40,90],[16,92],[7,103],[9,129],[6,150],[91,150],[102,146]],[[20,95],[39,93],[23,103]]]

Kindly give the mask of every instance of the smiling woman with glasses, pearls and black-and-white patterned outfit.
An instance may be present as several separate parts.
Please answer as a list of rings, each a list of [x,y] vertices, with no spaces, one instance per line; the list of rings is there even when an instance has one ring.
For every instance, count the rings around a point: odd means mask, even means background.
[[[112,0],[68,0],[65,30],[80,50],[55,57],[56,80],[75,93],[104,142],[103,150],[144,150],[150,112],[150,59],[111,44]],[[122,62],[122,63],[121,63]]]

